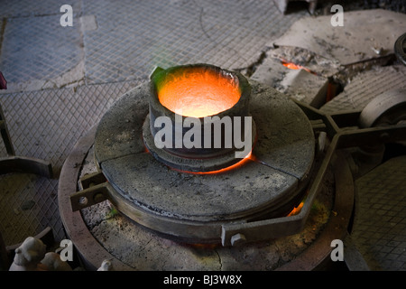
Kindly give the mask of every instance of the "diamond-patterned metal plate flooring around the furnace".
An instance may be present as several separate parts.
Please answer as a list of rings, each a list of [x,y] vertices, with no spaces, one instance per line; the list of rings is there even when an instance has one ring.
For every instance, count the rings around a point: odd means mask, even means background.
[[[306,5],[281,14],[271,0],[71,0],[73,25],[64,27],[64,4],[0,1],[0,71],[7,80],[0,105],[15,154],[49,161],[55,174],[1,176],[6,245],[48,226],[56,239],[66,238],[57,200],[64,160],[155,66],[205,62],[250,70],[268,43],[310,16]],[[372,270],[406,270],[405,168],[399,157],[355,182],[352,237]]]

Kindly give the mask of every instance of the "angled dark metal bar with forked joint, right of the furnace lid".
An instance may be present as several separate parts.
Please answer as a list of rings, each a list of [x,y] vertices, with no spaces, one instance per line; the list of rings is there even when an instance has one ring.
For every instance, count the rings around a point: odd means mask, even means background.
[[[317,108],[292,100],[304,111],[310,121],[322,119],[326,126],[326,133],[331,139],[316,178],[310,184],[309,193],[303,207],[300,213],[294,216],[223,225],[221,232],[223,246],[233,246],[237,243],[262,241],[300,233],[309,218],[313,201],[321,189],[328,165],[337,150],[366,144],[384,144],[406,140],[406,125],[404,124],[360,129],[358,128],[358,119],[361,111],[347,111],[328,115]]]

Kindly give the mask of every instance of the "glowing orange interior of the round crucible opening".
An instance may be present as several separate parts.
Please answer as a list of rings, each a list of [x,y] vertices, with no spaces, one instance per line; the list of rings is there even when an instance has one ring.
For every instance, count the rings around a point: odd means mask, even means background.
[[[240,95],[235,81],[211,70],[185,70],[158,90],[162,106],[184,117],[216,115],[233,107]]]

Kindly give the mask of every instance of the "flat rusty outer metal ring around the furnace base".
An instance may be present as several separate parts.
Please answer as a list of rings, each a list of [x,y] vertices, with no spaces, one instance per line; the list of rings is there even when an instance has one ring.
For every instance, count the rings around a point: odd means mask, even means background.
[[[126,265],[123,261],[111,255],[88,230],[88,225],[85,223],[80,211],[72,211],[71,208],[71,196],[78,190],[78,175],[81,170],[81,167],[77,164],[85,161],[89,150],[94,144],[95,134],[96,126],[93,127],[87,135],[84,135],[78,140],[78,143],[75,144],[75,147],[62,167],[58,190],[60,216],[64,228],[67,230],[67,235],[78,249],[78,254],[82,258],[81,261],[89,270],[97,270],[97,267],[106,259],[111,260],[114,270],[134,270],[133,267]],[[340,180],[346,180],[346,182],[338,183],[339,188],[337,188],[337,191],[343,191],[344,193],[336,196],[334,210],[337,212],[337,217],[333,216],[333,218],[328,221],[326,228],[323,229],[320,236],[309,248],[290,263],[278,268],[278,270],[313,270],[317,268],[319,264],[323,263],[326,258],[329,258],[331,240],[345,238],[347,220],[350,219],[353,209],[351,205],[348,206],[348,200],[354,198],[354,191],[351,190],[351,186],[353,185],[352,179],[348,180],[348,176],[351,176],[348,165],[344,166],[346,170],[343,170],[343,166],[340,165],[340,163],[346,164],[346,160],[340,157],[337,157],[337,160],[339,162],[337,162],[335,174],[338,173]],[[80,182],[84,190],[86,190],[88,186],[95,187],[94,184],[100,181],[97,181],[97,174],[98,173],[89,174],[88,177],[85,176],[81,178]],[[235,240],[235,245],[237,243],[240,242]]]

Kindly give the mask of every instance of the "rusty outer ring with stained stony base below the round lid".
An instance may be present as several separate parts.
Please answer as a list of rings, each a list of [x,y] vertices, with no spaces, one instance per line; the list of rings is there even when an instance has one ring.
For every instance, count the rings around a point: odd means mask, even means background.
[[[140,226],[111,214],[108,201],[72,212],[69,196],[76,191],[77,181],[86,172],[97,170],[91,154],[95,130],[80,138],[60,175],[60,216],[67,234],[78,249],[89,270],[96,270],[104,260],[110,260],[113,270],[313,270],[330,259],[332,239],[344,239],[351,217],[354,188],[346,164],[333,163],[336,191],[334,208],[330,190],[320,191],[317,210],[312,210],[304,231],[294,236],[270,240],[243,247],[190,246],[172,242],[152,234]],[[86,158],[86,159],[85,159]],[[345,157],[337,157],[345,163]],[[83,163],[84,166],[78,166]],[[347,172],[347,173],[342,173]],[[348,175],[349,177],[346,177]],[[331,179],[328,178],[328,188]],[[334,211],[335,214],[330,214]],[[314,218],[312,217],[314,215]],[[327,222],[327,223],[326,223]],[[315,229],[315,225],[317,228]]]

